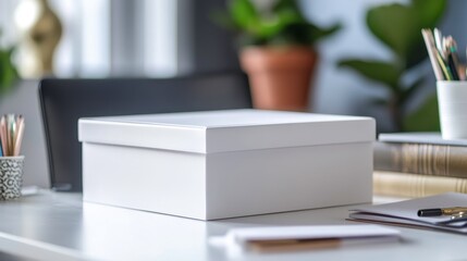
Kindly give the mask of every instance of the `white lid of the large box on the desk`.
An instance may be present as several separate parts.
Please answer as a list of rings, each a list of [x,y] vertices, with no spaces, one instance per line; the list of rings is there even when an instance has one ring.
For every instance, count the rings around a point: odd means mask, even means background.
[[[372,141],[371,117],[225,110],[79,119],[78,139],[198,153]]]

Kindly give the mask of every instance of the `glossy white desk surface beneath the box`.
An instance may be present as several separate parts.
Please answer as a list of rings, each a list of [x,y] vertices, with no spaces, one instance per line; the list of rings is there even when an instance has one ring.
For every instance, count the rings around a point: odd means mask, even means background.
[[[340,207],[197,221],[82,202],[81,194],[41,191],[0,202],[0,252],[24,260],[466,260],[467,236],[405,227],[398,243],[339,249],[230,257],[208,244],[231,227],[330,225],[345,221]],[[1,256],[0,256],[1,257]],[[17,259],[23,260],[23,259]]]

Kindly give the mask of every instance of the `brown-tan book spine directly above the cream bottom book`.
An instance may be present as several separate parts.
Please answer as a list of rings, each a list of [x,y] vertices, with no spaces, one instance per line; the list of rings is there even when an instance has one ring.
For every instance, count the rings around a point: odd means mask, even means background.
[[[467,178],[467,147],[377,141],[373,151],[377,171]]]

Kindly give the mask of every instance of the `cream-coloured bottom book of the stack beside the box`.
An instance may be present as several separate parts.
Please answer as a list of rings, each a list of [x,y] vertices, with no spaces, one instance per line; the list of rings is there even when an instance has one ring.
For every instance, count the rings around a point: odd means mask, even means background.
[[[376,195],[418,198],[450,191],[467,194],[467,178],[373,172]]]

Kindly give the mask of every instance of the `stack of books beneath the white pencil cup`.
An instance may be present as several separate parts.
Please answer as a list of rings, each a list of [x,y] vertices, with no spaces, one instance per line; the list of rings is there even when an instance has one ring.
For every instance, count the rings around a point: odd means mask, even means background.
[[[467,140],[435,133],[380,134],[374,144],[376,195],[467,194]]]

